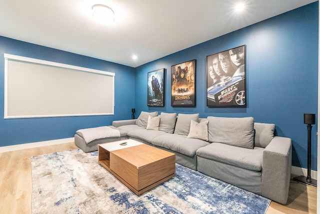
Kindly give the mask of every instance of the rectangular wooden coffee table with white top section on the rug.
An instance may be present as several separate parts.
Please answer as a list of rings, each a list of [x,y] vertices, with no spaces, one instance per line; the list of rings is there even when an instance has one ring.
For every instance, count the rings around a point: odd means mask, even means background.
[[[174,153],[133,139],[98,144],[98,162],[137,195],[175,176]]]

